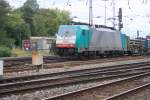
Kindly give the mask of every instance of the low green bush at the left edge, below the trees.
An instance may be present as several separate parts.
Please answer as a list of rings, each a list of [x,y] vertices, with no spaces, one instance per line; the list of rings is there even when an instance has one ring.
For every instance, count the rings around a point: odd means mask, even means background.
[[[0,45],[0,57],[10,57],[11,56],[11,49]]]

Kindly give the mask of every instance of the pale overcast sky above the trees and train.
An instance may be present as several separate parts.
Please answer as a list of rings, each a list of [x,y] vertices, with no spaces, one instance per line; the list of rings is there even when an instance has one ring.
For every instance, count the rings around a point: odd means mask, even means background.
[[[18,8],[26,0],[6,0],[12,8]],[[40,8],[59,8],[67,10],[74,21],[87,22],[89,16],[89,0],[37,0]],[[69,1],[69,2],[68,2]],[[105,3],[106,3],[106,25],[113,26],[113,6],[112,0],[92,0],[93,1],[93,22],[94,24],[105,25]],[[143,3],[143,0],[114,0],[115,16],[117,18],[119,8],[123,12],[123,32],[131,38],[137,36],[139,30],[141,37],[150,34],[150,1]],[[117,21],[116,21],[117,24]]]

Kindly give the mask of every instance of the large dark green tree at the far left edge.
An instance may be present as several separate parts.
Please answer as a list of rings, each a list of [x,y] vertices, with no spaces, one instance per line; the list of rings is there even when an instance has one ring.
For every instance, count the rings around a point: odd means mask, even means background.
[[[12,48],[14,43],[19,45],[20,38],[30,36],[29,25],[22,19],[21,13],[12,10],[4,0],[0,0],[0,23],[0,45]]]

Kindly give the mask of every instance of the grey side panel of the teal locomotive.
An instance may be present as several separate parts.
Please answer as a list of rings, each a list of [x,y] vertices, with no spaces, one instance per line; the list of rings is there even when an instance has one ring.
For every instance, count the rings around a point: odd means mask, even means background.
[[[93,29],[89,50],[101,52],[122,50],[120,32],[105,28]]]

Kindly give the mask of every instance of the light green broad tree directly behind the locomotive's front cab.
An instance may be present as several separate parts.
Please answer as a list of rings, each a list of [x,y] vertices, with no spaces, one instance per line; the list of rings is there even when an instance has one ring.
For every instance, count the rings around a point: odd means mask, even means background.
[[[54,36],[59,25],[70,23],[69,13],[58,9],[40,9],[33,17],[38,36]]]

